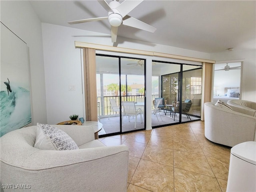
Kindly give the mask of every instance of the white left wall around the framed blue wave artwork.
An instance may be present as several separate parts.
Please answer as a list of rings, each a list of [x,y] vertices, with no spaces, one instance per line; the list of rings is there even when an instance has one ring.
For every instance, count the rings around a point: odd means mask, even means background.
[[[28,1],[0,1],[0,6],[1,22],[28,45],[32,125],[47,123],[41,22]]]

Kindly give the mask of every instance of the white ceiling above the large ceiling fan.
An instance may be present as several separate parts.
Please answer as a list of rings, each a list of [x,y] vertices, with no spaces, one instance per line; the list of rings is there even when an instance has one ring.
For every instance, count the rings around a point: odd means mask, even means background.
[[[110,34],[108,20],[74,25],[67,23],[107,16],[106,10],[96,0],[30,2],[44,23]],[[130,38],[127,41],[135,39],[208,53],[222,52],[228,48],[255,49],[256,46],[255,0],[144,0],[128,15],[157,30],[150,33],[121,25],[118,36]],[[111,42],[111,37],[109,40]],[[113,45],[117,44],[118,38]]]

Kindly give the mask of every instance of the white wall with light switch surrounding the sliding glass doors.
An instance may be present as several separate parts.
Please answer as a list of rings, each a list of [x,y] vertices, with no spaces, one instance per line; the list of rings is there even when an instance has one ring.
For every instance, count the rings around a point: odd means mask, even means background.
[[[69,116],[74,113],[81,117],[84,115],[84,96],[82,95],[80,49],[74,47],[74,41],[112,46],[110,35],[42,23],[42,36],[48,123],[55,124],[68,120]],[[122,42],[118,46],[123,48],[165,52],[195,58],[210,58],[208,53],[118,38]],[[98,53],[106,54],[106,52],[100,51]],[[121,55],[113,52],[107,52],[107,54]],[[125,56],[146,58],[132,54]],[[149,67],[151,68],[151,66]],[[150,78],[147,81],[151,82],[151,74],[147,75]],[[74,85],[76,90],[69,91],[69,85]]]

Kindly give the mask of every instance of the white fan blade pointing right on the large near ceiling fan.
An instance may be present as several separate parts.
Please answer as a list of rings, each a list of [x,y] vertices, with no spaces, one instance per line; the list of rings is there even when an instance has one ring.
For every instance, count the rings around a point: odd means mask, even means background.
[[[142,30],[152,32],[152,33],[154,33],[156,31],[156,28],[154,28],[153,26],[146,24],[146,23],[144,23],[136,18],[130,17],[130,16],[126,16],[125,18],[123,18],[123,25],[142,29]]]

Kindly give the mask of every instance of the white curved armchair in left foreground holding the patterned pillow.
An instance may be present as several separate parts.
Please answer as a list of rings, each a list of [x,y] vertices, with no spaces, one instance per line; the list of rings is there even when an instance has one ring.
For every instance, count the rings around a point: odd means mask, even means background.
[[[34,148],[36,126],[1,137],[1,186],[14,184],[4,191],[126,191],[127,146],[105,146],[94,140],[92,126],[54,126],[64,130],[79,149]],[[17,185],[23,185],[23,189],[15,189]]]

